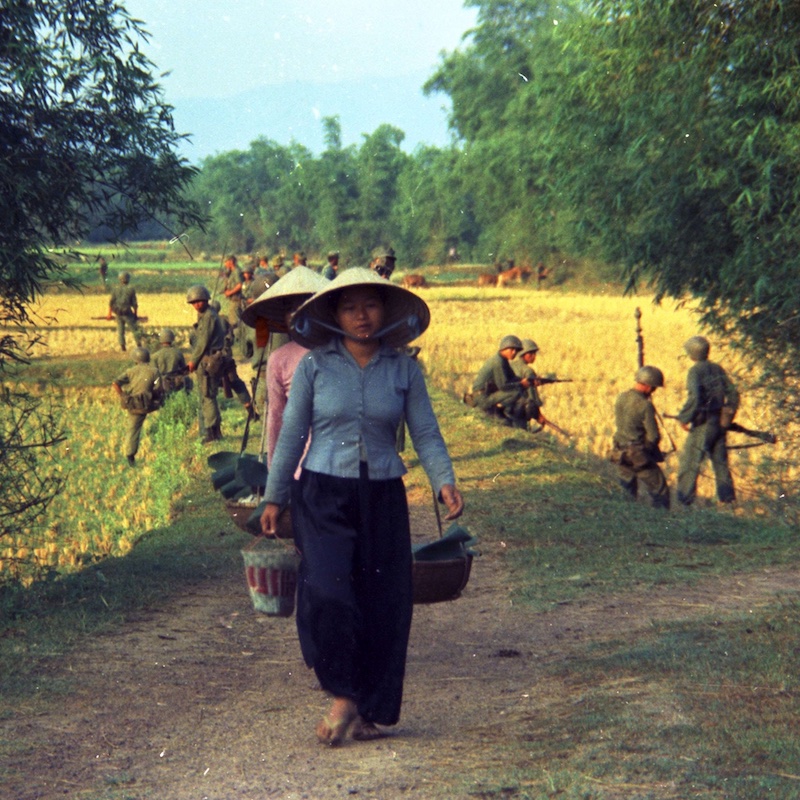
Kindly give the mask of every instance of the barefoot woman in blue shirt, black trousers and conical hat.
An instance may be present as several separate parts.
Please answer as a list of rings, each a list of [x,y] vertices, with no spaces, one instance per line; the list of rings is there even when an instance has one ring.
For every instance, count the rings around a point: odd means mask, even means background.
[[[363,267],[329,281],[292,320],[295,341],[313,349],[292,379],[261,525],[274,533],[291,497],[297,630],[333,697],[316,727],[327,745],[348,732],[374,739],[377,725],[400,717],[412,614],[406,468],[395,450],[402,414],[446,519],[464,508],[422,372],[399,350],[429,322],[421,298]]]

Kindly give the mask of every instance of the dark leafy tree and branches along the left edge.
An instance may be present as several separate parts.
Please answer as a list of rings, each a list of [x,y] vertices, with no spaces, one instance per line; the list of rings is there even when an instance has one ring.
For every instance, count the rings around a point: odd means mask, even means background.
[[[59,488],[33,455],[59,440],[55,417],[10,374],[29,352],[31,303],[65,277],[54,246],[95,225],[119,236],[153,217],[202,222],[144,35],[111,0],[0,5],[0,535]]]

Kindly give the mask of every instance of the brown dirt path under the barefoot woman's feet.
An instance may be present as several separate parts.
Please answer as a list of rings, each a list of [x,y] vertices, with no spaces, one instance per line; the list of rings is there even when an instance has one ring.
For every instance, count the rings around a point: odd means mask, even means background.
[[[403,719],[390,737],[336,750],[316,743],[327,702],[301,661],[294,619],[254,612],[237,572],[36,676],[63,694],[0,721],[18,747],[0,773],[2,796],[501,797],[485,781],[501,765],[514,768],[509,742],[552,735],[538,730],[537,709],[575,691],[546,666],[589,639],[752,608],[798,585],[796,574],[762,572],[537,614],[509,602],[503,550],[482,552],[458,601],[415,607]]]

